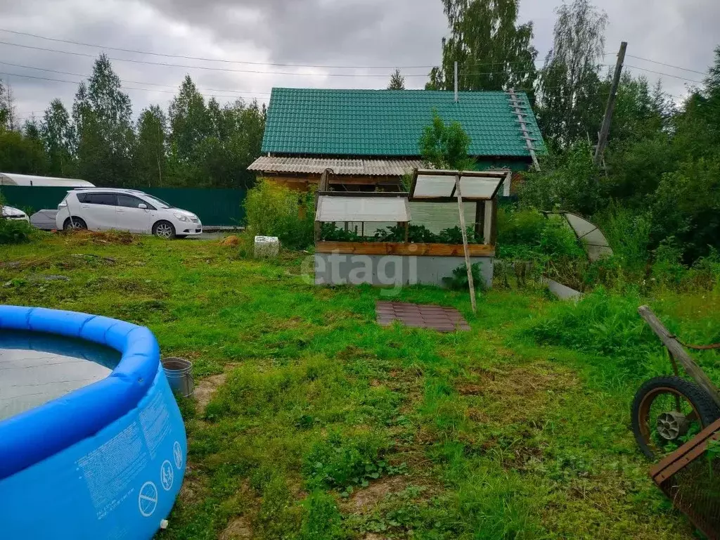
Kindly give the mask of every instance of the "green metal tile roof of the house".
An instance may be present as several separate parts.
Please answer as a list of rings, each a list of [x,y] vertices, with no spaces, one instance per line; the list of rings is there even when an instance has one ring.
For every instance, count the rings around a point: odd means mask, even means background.
[[[518,99],[528,104],[523,92]],[[471,139],[471,156],[529,157],[518,117],[505,92],[431,90],[328,90],[274,88],[263,153],[333,156],[418,156],[423,127],[433,109],[457,120]],[[528,129],[544,151],[528,106]]]

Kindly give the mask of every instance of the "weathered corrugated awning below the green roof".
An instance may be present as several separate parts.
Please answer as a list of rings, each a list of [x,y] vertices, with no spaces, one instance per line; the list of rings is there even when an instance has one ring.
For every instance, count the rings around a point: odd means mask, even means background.
[[[402,176],[421,168],[419,159],[338,159],[338,158],[292,158],[261,156],[248,171],[266,173],[323,174],[326,168],[343,176]]]

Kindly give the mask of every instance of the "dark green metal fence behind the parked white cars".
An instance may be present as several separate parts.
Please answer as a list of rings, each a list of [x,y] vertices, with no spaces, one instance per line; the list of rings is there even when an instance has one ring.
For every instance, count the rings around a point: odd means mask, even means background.
[[[194,212],[203,225],[242,225],[245,221],[245,189],[193,189],[183,187],[145,188],[143,192],[163,199],[174,207]],[[66,196],[66,187],[2,186],[7,204],[37,212],[55,209]]]

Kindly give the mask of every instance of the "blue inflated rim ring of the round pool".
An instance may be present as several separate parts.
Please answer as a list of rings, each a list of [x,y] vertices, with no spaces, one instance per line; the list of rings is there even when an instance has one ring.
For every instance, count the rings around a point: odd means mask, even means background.
[[[79,338],[122,354],[106,378],[0,421],[0,480],[94,435],[135,408],[160,365],[153,333],[122,320],[44,307],[0,305],[0,330]]]

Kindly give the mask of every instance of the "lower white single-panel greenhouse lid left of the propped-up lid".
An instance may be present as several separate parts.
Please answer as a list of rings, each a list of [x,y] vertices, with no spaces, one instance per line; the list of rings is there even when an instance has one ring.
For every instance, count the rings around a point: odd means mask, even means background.
[[[407,193],[323,194],[318,198],[315,221],[409,222]]]

